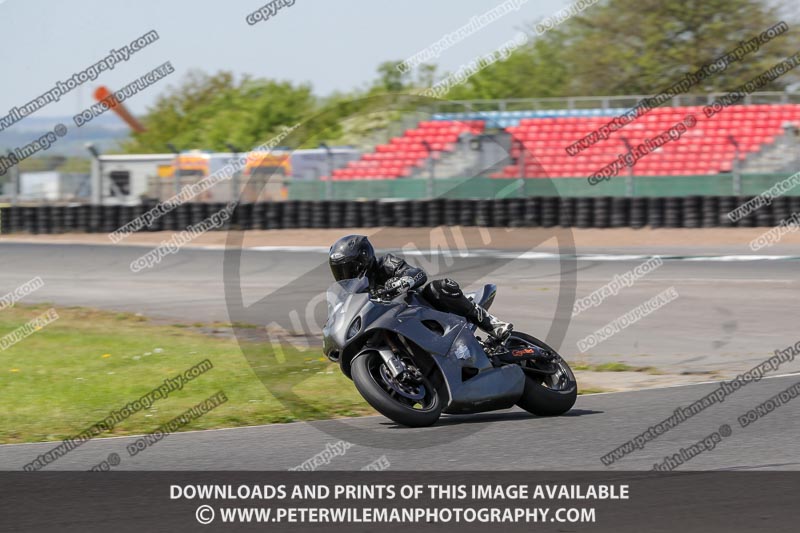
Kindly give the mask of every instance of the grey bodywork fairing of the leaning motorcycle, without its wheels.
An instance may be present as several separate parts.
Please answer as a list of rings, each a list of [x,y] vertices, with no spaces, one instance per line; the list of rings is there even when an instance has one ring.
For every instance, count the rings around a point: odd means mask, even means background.
[[[484,293],[493,297],[494,291],[486,289]],[[359,318],[358,332],[346,338]],[[351,361],[370,350],[364,343],[377,330],[395,332],[431,355],[447,387],[445,413],[506,409],[522,395],[525,374],[519,366],[494,367],[475,338],[473,325],[429,307],[416,293],[405,301],[386,303],[370,300],[363,292],[348,294],[323,328],[323,350],[326,355],[338,352],[342,372],[350,377]]]

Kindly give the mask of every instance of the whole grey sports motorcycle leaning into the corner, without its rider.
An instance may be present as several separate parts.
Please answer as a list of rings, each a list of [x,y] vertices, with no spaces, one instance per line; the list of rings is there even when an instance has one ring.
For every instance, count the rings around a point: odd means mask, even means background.
[[[496,292],[488,284],[466,296],[488,309]],[[536,337],[513,331],[503,342],[482,339],[474,324],[437,311],[420,293],[370,292],[363,276],[331,285],[327,302],[323,352],[375,410],[398,424],[424,427],[442,413],[514,405],[558,416],[575,404],[575,375]]]

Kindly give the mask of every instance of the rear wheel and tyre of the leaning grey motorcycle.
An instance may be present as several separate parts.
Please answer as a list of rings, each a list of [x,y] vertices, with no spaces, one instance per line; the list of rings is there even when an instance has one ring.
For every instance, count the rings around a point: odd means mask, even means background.
[[[567,362],[547,344],[525,333],[512,332],[506,345],[512,344],[533,344],[555,355],[555,360],[548,369],[555,370],[555,373],[543,374],[526,370],[525,390],[517,405],[538,416],[563,415],[572,409],[578,398],[578,383]],[[533,361],[523,361],[520,366],[536,368]]]

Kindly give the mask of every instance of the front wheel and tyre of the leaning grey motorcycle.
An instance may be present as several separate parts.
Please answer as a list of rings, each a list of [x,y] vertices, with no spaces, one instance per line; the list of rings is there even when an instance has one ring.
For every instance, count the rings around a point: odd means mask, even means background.
[[[408,427],[430,426],[439,420],[444,406],[424,376],[417,382],[398,381],[377,352],[356,357],[350,369],[358,392],[386,418]]]

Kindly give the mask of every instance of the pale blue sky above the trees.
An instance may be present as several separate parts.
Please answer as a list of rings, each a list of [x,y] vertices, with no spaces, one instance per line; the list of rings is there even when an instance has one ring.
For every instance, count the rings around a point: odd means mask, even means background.
[[[151,29],[160,35],[157,42],[34,116],[71,116],[93,103],[97,85],[120,88],[165,61],[175,74],[129,100],[134,114],[191,69],[309,82],[318,95],[346,91],[372,80],[379,63],[405,59],[501,0],[296,0],[273,18],[248,25],[245,17],[265,3],[0,0],[0,115]],[[567,5],[524,3],[445,51],[437,60],[440,70],[458,69],[508,41],[523,24]]]

